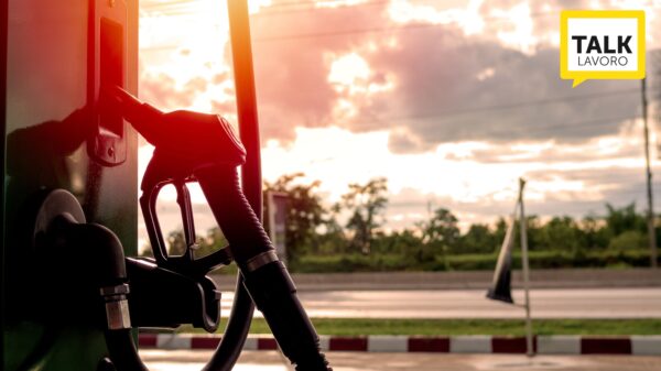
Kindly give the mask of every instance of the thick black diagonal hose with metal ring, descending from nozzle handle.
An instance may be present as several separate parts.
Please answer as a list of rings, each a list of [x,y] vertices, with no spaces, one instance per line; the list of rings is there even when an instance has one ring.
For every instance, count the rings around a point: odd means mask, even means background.
[[[235,261],[243,274],[245,286],[264,315],[282,352],[299,371],[329,370],[319,351],[316,330],[282,262],[273,261],[254,271],[246,266],[251,258],[273,250],[273,245],[241,192],[236,168],[206,167],[195,175],[229,241]]]

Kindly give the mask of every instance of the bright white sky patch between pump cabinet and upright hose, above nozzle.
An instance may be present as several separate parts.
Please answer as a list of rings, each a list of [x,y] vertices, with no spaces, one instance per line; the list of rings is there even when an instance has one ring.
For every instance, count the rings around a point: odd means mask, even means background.
[[[140,37],[140,80],[154,86],[141,89],[147,98],[164,109],[201,111],[234,99],[226,92],[231,80],[225,62],[229,29],[223,2],[142,2]]]

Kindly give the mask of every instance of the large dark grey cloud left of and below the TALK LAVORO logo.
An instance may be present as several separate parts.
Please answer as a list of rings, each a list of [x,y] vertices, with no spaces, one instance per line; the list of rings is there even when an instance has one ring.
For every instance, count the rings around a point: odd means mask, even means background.
[[[458,31],[423,34],[400,35],[400,48],[370,55],[369,62],[399,81],[381,98],[389,102],[381,107],[392,107],[381,120],[390,116],[393,126],[407,126],[427,143],[584,140],[615,133],[638,112],[638,81],[589,81],[572,90],[559,78],[557,50],[529,56]],[[486,69],[492,76],[479,80]]]

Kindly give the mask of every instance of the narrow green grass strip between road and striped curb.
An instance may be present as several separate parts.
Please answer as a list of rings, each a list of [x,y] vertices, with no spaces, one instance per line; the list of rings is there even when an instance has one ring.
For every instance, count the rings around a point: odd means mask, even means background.
[[[371,318],[313,318],[317,332],[334,336],[368,335],[499,335],[524,336],[522,320],[514,319],[371,319]],[[220,325],[224,328],[227,318]],[[661,319],[537,319],[532,323],[535,335],[661,335]],[[180,332],[204,332],[183,326]],[[251,334],[270,334],[263,318],[254,318]]]

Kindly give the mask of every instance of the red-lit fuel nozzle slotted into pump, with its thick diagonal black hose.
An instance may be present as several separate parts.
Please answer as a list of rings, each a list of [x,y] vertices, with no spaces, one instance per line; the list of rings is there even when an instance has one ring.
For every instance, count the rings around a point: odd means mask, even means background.
[[[124,118],[155,146],[141,185],[152,247],[163,245],[154,210],[156,190],[167,183],[197,181],[229,242],[245,286],[283,353],[299,371],[330,370],[290,274],[241,190],[236,167],[243,163],[246,150],[229,123],[216,114],[163,113],[120,88],[113,94]],[[154,249],[154,255],[159,264],[172,261],[164,248]],[[196,263],[191,260],[182,265]]]

